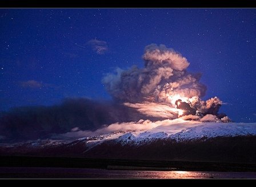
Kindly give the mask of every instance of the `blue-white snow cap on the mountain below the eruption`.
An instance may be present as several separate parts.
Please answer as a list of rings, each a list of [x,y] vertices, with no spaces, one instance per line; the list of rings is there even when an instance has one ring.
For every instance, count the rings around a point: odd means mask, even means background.
[[[145,143],[157,139],[175,141],[196,140],[213,137],[255,136],[256,123],[177,123],[161,125],[144,132],[129,132],[119,137],[121,143]]]

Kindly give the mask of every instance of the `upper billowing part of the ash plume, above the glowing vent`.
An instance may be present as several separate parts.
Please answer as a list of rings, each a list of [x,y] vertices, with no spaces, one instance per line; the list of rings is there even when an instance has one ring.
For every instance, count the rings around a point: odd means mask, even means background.
[[[117,74],[107,74],[102,82],[117,100],[137,102],[152,98],[170,103],[177,94],[182,97],[205,95],[206,86],[199,83],[201,76],[189,74],[189,62],[178,52],[164,45],[146,46],[144,68],[117,69]]]

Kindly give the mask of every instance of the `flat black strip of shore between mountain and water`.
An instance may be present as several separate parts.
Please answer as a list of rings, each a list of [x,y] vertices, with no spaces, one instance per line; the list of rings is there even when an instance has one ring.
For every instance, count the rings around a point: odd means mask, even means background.
[[[109,170],[158,170],[205,172],[256,172],[256,163],[165,160],[125,160],[79,157],[0,156],[4,167],[91,168]]]

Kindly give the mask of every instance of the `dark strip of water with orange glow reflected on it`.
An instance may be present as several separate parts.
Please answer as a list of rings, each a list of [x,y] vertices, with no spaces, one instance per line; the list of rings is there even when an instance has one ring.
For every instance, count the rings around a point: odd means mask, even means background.
[[[256,178],[256,172],[186,172],[0,167],[0,178]]]

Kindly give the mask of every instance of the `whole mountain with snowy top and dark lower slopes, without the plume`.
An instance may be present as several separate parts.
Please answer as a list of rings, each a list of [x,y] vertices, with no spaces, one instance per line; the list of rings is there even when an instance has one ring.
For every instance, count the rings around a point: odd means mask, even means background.
[[[136,129],[133,125],[143,127]],[[83,137],[97,132],[78,130],[54,139],[2,144],[0,155],[256,162],[256,123],[176,119],[161,123],[139,121],[123,131],[116,126],[100,129],[101,133],[105,132],[102,135]],[[113,132],[107,132],[109,129]]]

